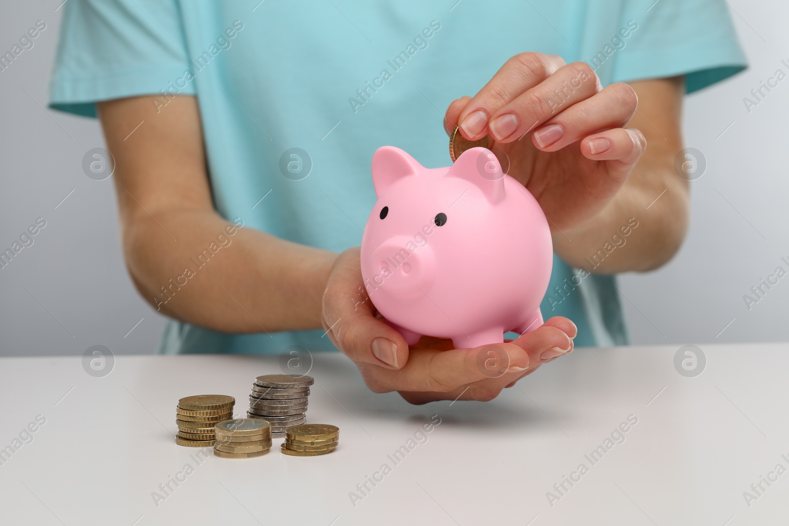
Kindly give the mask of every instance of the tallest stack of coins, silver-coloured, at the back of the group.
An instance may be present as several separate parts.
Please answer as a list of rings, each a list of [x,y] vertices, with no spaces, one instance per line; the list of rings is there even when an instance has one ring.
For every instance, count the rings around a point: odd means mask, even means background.
[[[252,384],[247,416],[267,420],[271,436],[282,438],[288,427],[307,420],[307,396],[314,382],[310,376],[258,376]]]

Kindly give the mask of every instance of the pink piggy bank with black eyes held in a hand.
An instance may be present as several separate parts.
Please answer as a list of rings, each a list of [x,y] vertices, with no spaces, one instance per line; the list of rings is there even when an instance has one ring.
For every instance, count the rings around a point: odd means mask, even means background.
[[[361,275],[409,345],[422,334],[455,349],[501,343],[543,323],[551,232],[539,203],[487,148],[425,168],[384,146],[372,156],[378,201],[361,241]]]

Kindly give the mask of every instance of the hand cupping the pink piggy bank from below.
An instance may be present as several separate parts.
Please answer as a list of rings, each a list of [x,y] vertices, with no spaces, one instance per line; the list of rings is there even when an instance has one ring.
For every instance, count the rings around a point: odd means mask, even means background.
[[[492,400],[541,364],[573,349],[578,330],[567,318],[501,344],[452,349],[450,340],[423,337],[411,349],[383,322],[365,293],[359,248],[342,252],[323,293],[323,328],[376,393],[398,391],[412,404]]]

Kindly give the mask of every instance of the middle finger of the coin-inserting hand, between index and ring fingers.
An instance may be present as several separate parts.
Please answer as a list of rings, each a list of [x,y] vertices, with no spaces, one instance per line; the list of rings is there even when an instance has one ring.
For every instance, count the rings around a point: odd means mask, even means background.
[[[520,139],[545,121],[602,89],[592,67],[573,62],[518,95],[491,115],[490,131],[502,143]]]

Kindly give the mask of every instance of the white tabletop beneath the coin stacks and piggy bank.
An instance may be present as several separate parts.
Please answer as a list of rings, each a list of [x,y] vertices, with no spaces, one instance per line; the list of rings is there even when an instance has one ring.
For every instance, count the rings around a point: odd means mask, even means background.
[[[678,346],[576,349],[495,401],[422,406],[372,394],[344,356],[317,354],[308,422],[340,427],[334,453],[287,457],[277,439],[264,457],[200,464],[174,443],[178,398],[230,394],[243,415],[276,357],[118,356],[103,378],[79,356],[5,358],[0,448],[46,423],[0,466],[0,523],[787,524],[789,472],[769,472],[789,469],[789,345],[701,348],[694,378],[675,370]],[[624,442],[589,461],[628,416]],[[170,476],[183,482],[157,506]],[[559,494],[564,476],[578,481]],[[776,481],[757,495],[760,476]]]

